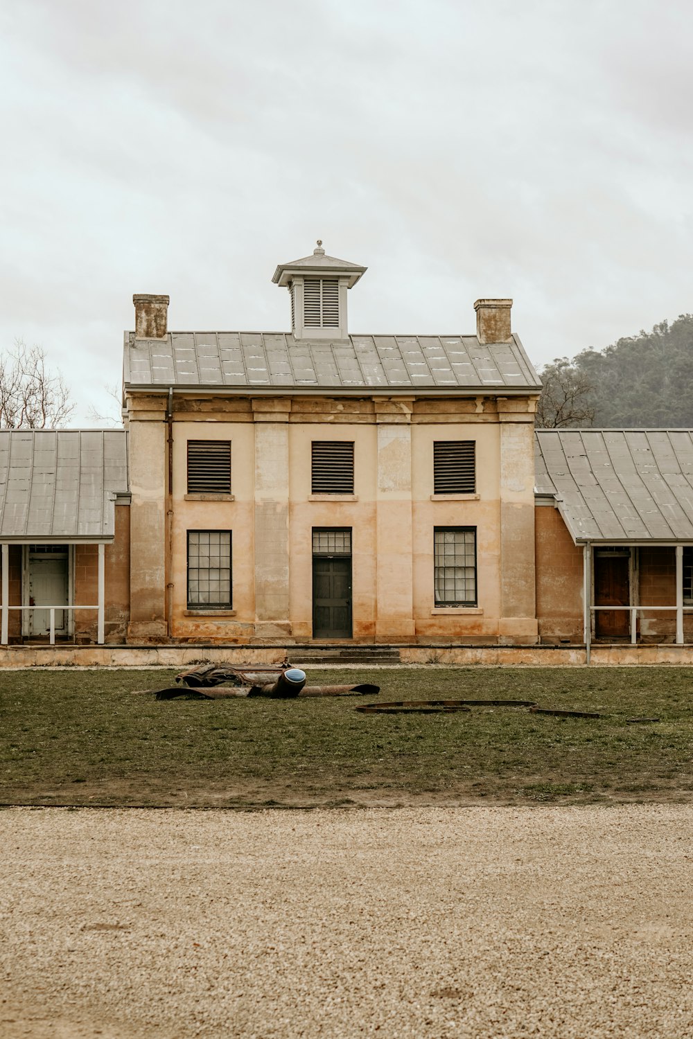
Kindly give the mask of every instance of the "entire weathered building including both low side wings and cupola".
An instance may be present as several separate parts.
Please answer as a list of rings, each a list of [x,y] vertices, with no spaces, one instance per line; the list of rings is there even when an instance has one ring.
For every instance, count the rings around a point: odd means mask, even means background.
[[[690,641],[691,430],[534,431],[510,299],[352,335],[365,267],[281,264],[290,331],[134,297],[125,430],[0,431],[0,643]]]

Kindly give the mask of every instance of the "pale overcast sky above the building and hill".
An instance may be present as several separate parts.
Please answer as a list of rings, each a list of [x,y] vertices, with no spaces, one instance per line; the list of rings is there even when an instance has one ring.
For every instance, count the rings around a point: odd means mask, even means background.
[[[352,332],[535,364],[693,310],[690,0],[0,0],[0,347],[108,407],[133,292],[287,329],[279,262],[367,265]]]

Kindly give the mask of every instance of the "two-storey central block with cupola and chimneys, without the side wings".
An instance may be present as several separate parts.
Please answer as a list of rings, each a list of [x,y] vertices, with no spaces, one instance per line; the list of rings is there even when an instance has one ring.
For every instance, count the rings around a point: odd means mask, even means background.
[[[534,406],[509,299],[472,336],[350,335],[365,268],[281,264],[289,332],[135,296],[130,641],[534,642]]]

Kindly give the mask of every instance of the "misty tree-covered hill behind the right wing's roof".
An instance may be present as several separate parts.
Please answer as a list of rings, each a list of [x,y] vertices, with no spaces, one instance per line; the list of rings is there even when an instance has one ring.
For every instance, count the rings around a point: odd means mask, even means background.
[[[693,427],[693,315],[663,321],[601,351],[558,359],[544,367],[541,378],[548,418],[540,425]],[[582,405],[572,405],[571,418],[569,401],[561,414],[549,399],[550,391],[561,399],[566,388],[574,394],[577,389]]]

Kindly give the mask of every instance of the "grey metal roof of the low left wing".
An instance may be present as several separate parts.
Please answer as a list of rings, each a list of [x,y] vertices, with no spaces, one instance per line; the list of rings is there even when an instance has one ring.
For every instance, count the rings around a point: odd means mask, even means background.
[[[0,541],[112,540],[124,430],[0,431]]]

